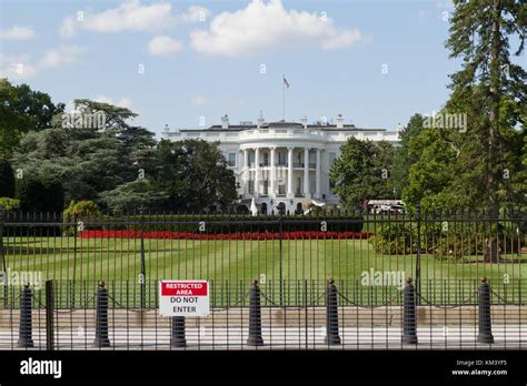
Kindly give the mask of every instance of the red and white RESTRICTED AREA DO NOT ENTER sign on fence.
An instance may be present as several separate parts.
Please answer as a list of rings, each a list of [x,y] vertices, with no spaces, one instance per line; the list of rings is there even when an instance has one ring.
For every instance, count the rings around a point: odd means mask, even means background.
[[[207,316],[210,313],[207,281],[160,281],[161,316]]]

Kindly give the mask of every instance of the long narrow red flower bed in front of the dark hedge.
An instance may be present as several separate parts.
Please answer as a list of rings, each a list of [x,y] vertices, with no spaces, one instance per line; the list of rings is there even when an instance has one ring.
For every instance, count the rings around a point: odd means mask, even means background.
[[[284,240],[329,240],[329,238],[368,238],[374,233],[366,232],[321,232],[321,231],[294,231],[284,232]],[[139,238],[140,231],[83,231],[79,234],[81,238]],[[252,233],[191,233],[151,231],[143,232],[145,238],[160,240],[279,240],[278,232],[252,232]]]

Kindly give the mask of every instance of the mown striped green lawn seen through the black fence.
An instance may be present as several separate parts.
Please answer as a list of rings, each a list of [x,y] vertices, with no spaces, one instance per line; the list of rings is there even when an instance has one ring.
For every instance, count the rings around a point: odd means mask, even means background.
[[[88,284],[76,285],[90,288],[99,280],[109,286],[131,285],[133,290],[128,291],[139,296],[140,240],[6,237],[3,243],[7,267],[13,271],[42,271],[43,280],[84,281]],[[320,297],[329,277],[334,277],[340,291],[354,302],[384,303],[397,295],[397,286],[395,283],[365,286],[364,272],[389,271],[400,278],[416,277],[415,255],[376,254],[367,240],[285,240],[281,258],[279,251],[279,241],[269,240],[145,240],[146,278],[151,287],[148,296],[156,297],[156,280],[201,278],[213,282],[218,303],[230,304],[239,299],[251,280],[259,278],[262,291],[278,302],[280,261],[286,283],[281,288],[282,301],[288,303],[302,303],[306,296]],[[484,263],[483,256],[466,256],[465,261],[467,263],[455,263],[424,254],[422,294],[435,302],[459,302],[484,275],[498,288],[526,286],[525,254],[504,256],[504,262],[496,264]],[[509,284],[510,287],[505,287]],[[526,290],[521,291],[527,293]],[[517,292],[514,290],[506,296],[518,296]],[[93,291],[87,287],[86,293]]]

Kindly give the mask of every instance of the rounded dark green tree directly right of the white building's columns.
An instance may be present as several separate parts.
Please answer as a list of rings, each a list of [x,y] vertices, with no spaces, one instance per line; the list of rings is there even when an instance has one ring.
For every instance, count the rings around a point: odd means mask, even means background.
[[[329,173],[346,210],[360,207],[365,200],[394,197],[390,179],[394,156],[395,149],[386,141],[348,139]]]

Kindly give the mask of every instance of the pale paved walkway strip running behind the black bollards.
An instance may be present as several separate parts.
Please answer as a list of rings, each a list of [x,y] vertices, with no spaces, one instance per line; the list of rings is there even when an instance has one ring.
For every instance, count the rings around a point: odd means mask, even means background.
[[[170,329],[119,328],[109,332],[111,347],[102,349],[527,349],[527,325],[493,326],[494,344],[476,342],[477,327],[418,327],[417,345],[401,344],[400,327],[340,328],[341,345],[324,343],[325,328],[272,327],[262,329],[264,346],[247,346],[248,328],[187,327],[187,347],[170,347]],[[33,329],[34,348],[46,349],[46,331]],[[93,329],[56,332],[57,349],[100,349],[92,346]],[[17,345],[18,331],[0,331],[0,349],[27,349]]]

